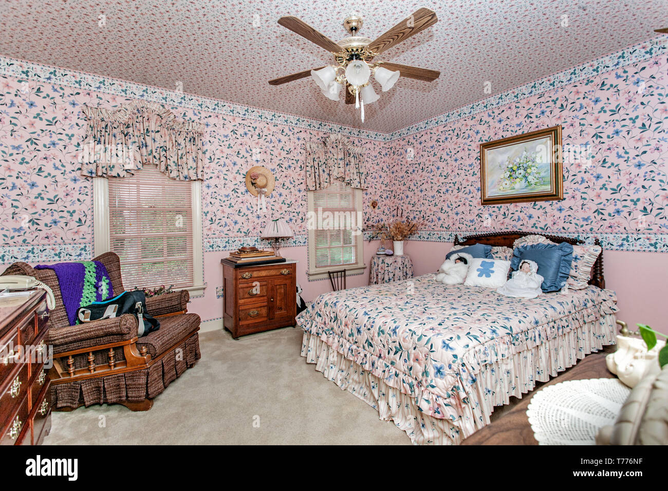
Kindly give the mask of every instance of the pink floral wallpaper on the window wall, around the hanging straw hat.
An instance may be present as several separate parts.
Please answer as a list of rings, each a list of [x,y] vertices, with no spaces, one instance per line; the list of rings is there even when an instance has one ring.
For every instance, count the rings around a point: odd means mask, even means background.
[[[79,175],[79,145],[86,132],[81,106],[115,108],[131,100],[55,81],[0,77],[0,264],[92,257],[92,180]],[[277,180],[267,201],[268,213],[288,220],[295,231],[292,244],[306,243],[303,144],[324,138],[326,125],[315,130],[168,107],[178,118],[206,125],[205,252],[257,242],[267,217],[255,210],[255,200],[244,184],[246,170],[255,164],[267,166]],[[390,168],[388,145],[349,138],[367,148],[372,178],[365,194],[378,198]],[[367,214],[370,200],[364,200]],[[386,212],[390,202],[383,206]]]

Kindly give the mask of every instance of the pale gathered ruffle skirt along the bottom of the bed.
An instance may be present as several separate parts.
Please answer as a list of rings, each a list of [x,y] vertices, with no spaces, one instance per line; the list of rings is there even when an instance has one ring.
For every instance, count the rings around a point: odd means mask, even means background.
[[[536,387],[536,381],[548,381],[585,355],[614,344],[615,335],[615,315],[607,314],[510,357],[481,364],[476,382],[465,389],[459,418],[454,420],[425,414],[415,396],[346,359],[323,341],[326,336],[321,339],[305,332],[301,355],[307,363],[315,363],[315,369],[327,379],[378,410],[381,420],[392,421],[406,432],[413,444],[457,445],[490,423],[494,406],[507,404],[511,395],[522,397]]]

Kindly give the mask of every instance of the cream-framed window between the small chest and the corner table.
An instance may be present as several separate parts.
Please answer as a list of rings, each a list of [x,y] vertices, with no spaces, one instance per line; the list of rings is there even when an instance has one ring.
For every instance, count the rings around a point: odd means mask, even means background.
[[[339,180],[309,191],[310,279],[326,278],[327,271],[364,269],[361,210],[361,189]]]

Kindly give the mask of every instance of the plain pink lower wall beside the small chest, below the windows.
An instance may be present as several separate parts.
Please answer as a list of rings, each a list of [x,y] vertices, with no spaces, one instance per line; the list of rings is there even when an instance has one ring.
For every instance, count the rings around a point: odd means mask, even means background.
[[[363,287],[369,284],[368,265],[371,256],[378,249],[378,241],[364,242],[364,263],[367,269],[361,275],[351,275],[347,277],[347,287]],[[204,281],[206,281],[206,290],[203,297],[196,297],[190,301],[188,311],[197,313],[202,317],[202,321],[218,320],[222,318],[222,297],[216,297],[216,289],[222,286],[222,265],[220,259],[228,257],[230,251],[219,251],[214,253],[204,253]],[[289,259],[299,261],[297,263],[297,283],[301,285],[302,297],[305,301],[312,301],[321,293],[331,291],[329,279],[309,281],[306,270],[308,264],[307,247],[282,247],[281,255]],[[220,292],[218,292],[220,294]]]

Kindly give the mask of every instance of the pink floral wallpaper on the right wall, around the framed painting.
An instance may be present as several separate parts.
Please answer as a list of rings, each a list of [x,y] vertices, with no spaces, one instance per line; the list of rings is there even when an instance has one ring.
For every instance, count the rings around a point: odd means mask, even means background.
[[[597,236],[606,249],[668,252],[667,95],[663,51],[394,140],[407,168],[407,205],[428,224],[420,238],[536,230]],[[480,143],[555,125],[564,199],[481,206]]]

